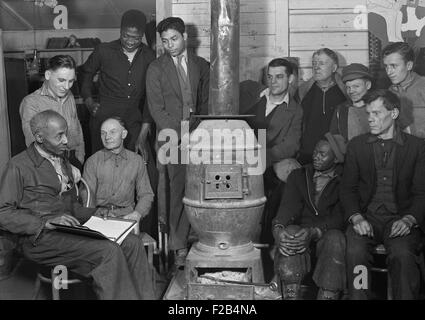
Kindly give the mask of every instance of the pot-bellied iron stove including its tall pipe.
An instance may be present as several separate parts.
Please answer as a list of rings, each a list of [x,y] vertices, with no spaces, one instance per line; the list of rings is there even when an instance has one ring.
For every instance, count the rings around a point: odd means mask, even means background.
[[[264,197],[261,146],[239,116],[239,0],[211,0],[208,116],[190,134],[183,203],[199,241],[186,259],[188,299],[238,299],[253,288],[201,282],[206,271],[240,271],[264,282],[259,234]]]

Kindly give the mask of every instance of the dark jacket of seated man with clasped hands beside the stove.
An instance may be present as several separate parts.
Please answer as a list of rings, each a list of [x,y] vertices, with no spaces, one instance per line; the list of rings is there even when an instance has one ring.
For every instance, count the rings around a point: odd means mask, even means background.
[[[322,232],[328,229],[342,229],[344,214],[339,199],[342,167],[337,166],[335,172],[336,176],[327,183],[316,206],[313,166],[306,165],[292,171],[273,225],[297,224],[303,227],[317,227]]]

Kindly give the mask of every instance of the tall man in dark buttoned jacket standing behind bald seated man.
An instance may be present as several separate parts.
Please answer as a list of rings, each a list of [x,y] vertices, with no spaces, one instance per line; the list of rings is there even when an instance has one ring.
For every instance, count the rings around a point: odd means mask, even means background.
[[[92,153],[103,147],[101,124],[118,116],[128,129],[125,146],[140,150],[146,160],[146,139],[152,123],[145,107],[146,70],[155,53],[142,43],[145,28],[143,12],[126,11],[121,18],[120,38],[97,46],[82,67],[81,95],[91,114]],[[92,96],[93,78],[98,72],[100,104]]]

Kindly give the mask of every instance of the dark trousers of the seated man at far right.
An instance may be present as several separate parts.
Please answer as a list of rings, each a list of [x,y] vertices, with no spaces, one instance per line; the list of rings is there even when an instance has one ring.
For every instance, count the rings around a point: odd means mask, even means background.
[[[400,216],[385,212],[385,210],[378,210],[373,214],[370,212],[365,214],[365,218],[372,225],[373,238],[358,235],[352,225],[346,232],[347,278],[350,298],[354,300],[371,298],[372,249],[383,243],[388,252],[386,263],[391,277],[394,299],[417,299],[420,289],[419,254],[422,232],[418,228],[414,228],[407,236],[389,238],[392,224],[400,219]],[[365,266],[367,269],[367,289],[355,288],[355,283],[358,283],[356,276],[360,275],[360,273],[354,273],[356,266]]]

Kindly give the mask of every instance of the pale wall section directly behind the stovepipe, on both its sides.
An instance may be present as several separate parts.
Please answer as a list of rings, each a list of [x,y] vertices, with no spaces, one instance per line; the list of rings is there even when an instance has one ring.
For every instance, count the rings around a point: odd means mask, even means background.
[[[170,1],[171,15],[182,18],[188,26],[189,47],[209,60],[210,0]],[[287,4],[288,0],[241,0],[240,81],[260,80],[269,60],[288,55],[288,17],[284,14]]]

